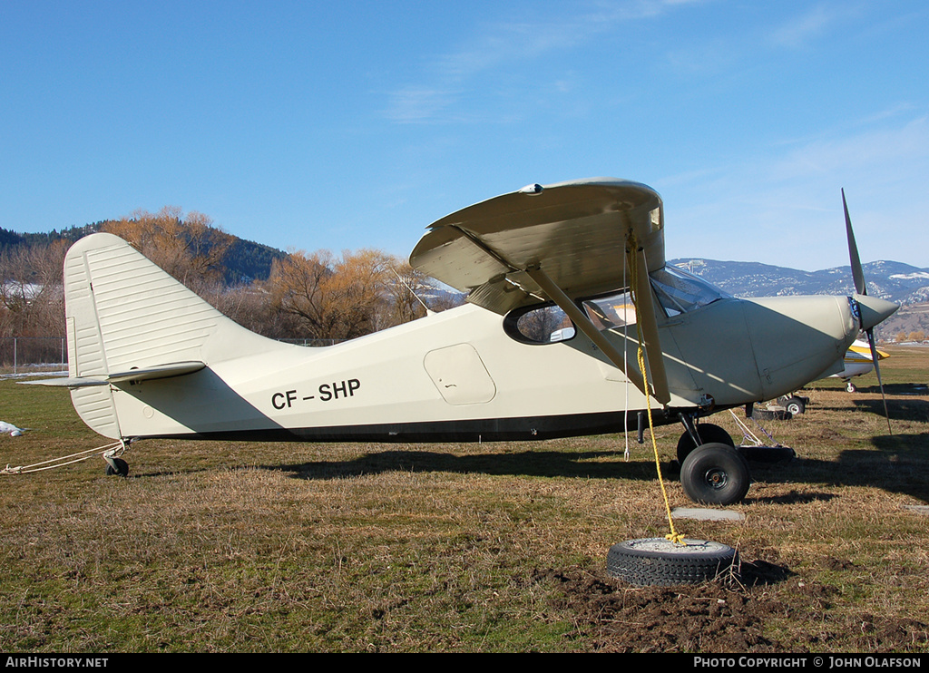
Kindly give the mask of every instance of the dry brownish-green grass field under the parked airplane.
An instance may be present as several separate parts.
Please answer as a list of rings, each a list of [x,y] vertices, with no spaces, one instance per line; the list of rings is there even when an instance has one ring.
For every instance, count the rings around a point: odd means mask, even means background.
[[[648,445],[622,435],[480,445],[146,441],[0,476],[0,652],[926,652],[929,349],[805,392],[766,428],[739,522],[740,582],[636,589],[610,545],[668,532]],[[0,463],[105,442],[67,392],[0,382]],[[715,422],[735,434],[728,412]],[[674,458],[678,426],[657,430]],[[691,507],[666,469],[673,506]]]

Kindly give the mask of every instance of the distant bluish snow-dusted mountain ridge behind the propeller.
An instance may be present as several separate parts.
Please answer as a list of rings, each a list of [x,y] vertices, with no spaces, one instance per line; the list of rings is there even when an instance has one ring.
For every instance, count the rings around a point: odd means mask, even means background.
[[[851,294],[855,291],[850,266],[821,271],[800,271],[758,262],[720,262],[678,258],[668,264],[687,269],[737,297],[791,294]],[[868,293],[896,304],[929,302],[929,268],[901,262],[878,261],[862,265]]]

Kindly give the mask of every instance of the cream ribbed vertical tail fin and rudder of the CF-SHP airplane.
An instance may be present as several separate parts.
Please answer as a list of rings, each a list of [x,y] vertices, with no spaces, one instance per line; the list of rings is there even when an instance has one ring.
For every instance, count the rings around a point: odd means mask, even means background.
[[[137,378],[180,376],[280,345],[236,324],[111,234],[72,245],[64,291],[72,402],[107,437],[123,434],[111,385],[103,383],[128,384],[135,370],[144,370]],[[86,383],[94,381],[101,384]]]

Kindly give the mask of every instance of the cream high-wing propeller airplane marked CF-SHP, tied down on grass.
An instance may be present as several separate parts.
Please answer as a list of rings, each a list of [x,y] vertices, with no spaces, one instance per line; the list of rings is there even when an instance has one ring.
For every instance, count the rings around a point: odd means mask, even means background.
[[[897,308],[863,280],[851,297],[728,296],[665,265],[661,197],[614,178],[447,215],[411,264],[467,304],[306,348],[245,330],[124,240],[93,234],[65,259],[69,376],[52,382],[122,443],[104,455],[121,474],[137,438],[537,440],[633,429],[654,407],[655,423],[685,427],[687,495],[728,504],[749,467],[700,420],[841,370],[858,330]]]

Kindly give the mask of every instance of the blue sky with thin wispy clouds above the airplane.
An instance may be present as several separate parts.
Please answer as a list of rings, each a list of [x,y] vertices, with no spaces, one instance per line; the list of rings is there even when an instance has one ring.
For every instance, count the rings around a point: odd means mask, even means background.
[[[661,192],[667,255],[929,266],[929,4],[0,0],[0,226],[165,205],[406,255],[476,201]]]

